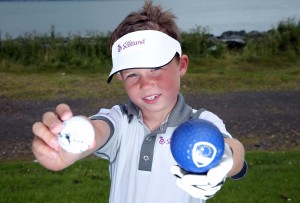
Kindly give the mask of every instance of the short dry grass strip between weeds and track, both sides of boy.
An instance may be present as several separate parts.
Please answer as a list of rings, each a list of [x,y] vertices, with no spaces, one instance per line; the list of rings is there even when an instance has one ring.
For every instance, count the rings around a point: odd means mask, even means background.
[[[191,64],[182,80],[183,93],[229,91],[281,91],[300,89],[300,61],[281,67],[253,67],[249,64],[213,66]],[[197,68],[198,73],[193,70]],[[125,97],[121,82],[107,84],[101,73],[7,73],[0,72],[0,96],[10,99],[76,99]]]

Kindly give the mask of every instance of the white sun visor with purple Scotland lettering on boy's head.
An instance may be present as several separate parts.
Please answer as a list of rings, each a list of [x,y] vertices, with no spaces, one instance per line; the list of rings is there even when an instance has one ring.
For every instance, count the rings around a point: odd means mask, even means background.
[[[163,32],[141,30],[128,33],[113,44],[113,67],[107,82],[121,70],[164,66],[176,53],[181,56],[180,43]]]

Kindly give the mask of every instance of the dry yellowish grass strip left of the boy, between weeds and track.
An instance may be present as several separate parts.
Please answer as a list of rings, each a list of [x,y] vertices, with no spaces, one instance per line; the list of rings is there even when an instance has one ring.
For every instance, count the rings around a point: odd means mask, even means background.
[[[101,74],[0,72],[0,96],[19,100],[49,100],[91,97],[108,99],[126,94],[120,82],[114,82],[113,88],[109,88],[106,80],[107,76]]]

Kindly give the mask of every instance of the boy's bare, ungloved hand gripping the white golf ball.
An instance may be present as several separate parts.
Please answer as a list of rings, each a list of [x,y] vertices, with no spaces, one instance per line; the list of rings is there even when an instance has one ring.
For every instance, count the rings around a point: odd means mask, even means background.
[[[47,169],[64,169],[82,156],[63,150],[58,143],[57,134],[61,131],[63,122],[72,116],[70,107],[60,104],[56,107],[56,113],[45,113],[42,122],[36,122],[32,126],[35,135],[32,151],[39,163]]]

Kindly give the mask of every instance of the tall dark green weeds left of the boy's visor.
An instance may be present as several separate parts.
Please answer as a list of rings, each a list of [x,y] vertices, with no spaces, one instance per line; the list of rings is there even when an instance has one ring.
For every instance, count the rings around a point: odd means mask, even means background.
[[[99,71],[110,64],[108,35],[64,38],[51,31],[50,36],[27,33],[16,39],[8,37],[0,44],[0,60],[24,69],[35,67],[34,71]]]

